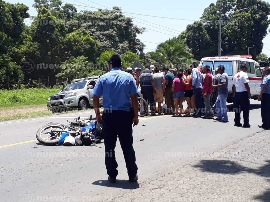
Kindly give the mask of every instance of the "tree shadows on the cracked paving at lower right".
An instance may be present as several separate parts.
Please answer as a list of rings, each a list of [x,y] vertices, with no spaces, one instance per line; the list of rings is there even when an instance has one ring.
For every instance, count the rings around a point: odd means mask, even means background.
[[[255,173],[259,176],[267,177],[267,180],[270,182],[270,161],[265,162],[268,162],[268,164],[257,169],[247,168],[237,162],[225,160],[201,160],[196,165],[193,165],[193,167],[201,168],[203,172],[222,173],[228,175],[241,172]],[[254,199],[264,202],[270,201],[270,190],[267,189],[261,195],[254,196]]]

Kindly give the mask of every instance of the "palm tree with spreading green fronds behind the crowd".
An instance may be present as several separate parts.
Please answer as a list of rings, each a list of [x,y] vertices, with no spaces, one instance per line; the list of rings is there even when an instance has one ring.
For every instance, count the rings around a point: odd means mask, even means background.
[[[175,37],[159,44],[156,52],[159,53],[164,58],[167,65],[170,65],[172,68],[174,64],[194,62],[193,54],[188,51],[187,46]]]

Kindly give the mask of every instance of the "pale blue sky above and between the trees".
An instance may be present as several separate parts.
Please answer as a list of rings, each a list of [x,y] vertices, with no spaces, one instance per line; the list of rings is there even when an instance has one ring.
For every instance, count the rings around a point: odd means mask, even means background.
[[[171,0],[171,1],[146,1],[146,0],[136,0],[136,1],[127,1],[127,0],[114,0],[114,1],[108,1],[108,0],[91,0],[95,3],[101,4],[97,5],[93,2],[87,1],[87,0],[63,0],[65,2],[68,2],[70,4],[76,4],[76,5],[89,5],[97,8],[105,8],[103,6],[112,8],[113,6],[119,6],[123,9],[123,12],[129,12],[129,13],[139,13],[144,15],[154,15],[154,16],[161,16],[161,17],[169,17],[169,18],[180,18],[180,19],[188,19],[188,20],[199,20],[204,8],[209,6],[212,2],[216,2],[215,0],[189,0],[189,1],[179,1],[179,0]],[[10,3],[17,3],[18,0],[9,0]],[[29,14],[31,16],[36,16],[37,12],[32,7],[34,4],[34,0],[24,0],[19,1],[20,3],[26,4],[29,7]],[[80,3],[79,3],[80,2]],[[136,3],[135,3],[136,2]],[[268,1],[269,2],[269,1]],[[85,6],[86,6],[85,5]],[[78,6],[77,10],[81,11],[82,8],[79,8]],[[85,10],[92,10],[95,11],[96,9],[92,8],[84,8]],[[164,19],[164,18],[153,18],[148,16],[141,16],[141,15],[134,15],[134,14],[126,14],[131,15],[136,18],[134,18],[134,24],[146,27],[148,29],[151,29],[144,34],[141,34],[138,36],[139,39],[143,40],[143,43],[146,45],[145,52],[153,51],[157,44],[161,43],[168,38],[171,38],[173,36],[178,36],[178,33],[185,30],[186,26],[193,21],[187,21],[187,20],[173,20],[173,19]],[[145,22],[143,20],[149,21]],[[28,20],[29,21],[29,20]],[[135,22],[136,21],[136,22]],[[145,24],[148,25],[145,25]],[[154,25],[154,24],[157,25]],[[151,25],[151,26],[149,26]],[[161,25],[163,27],[160,27],[158,25]],[[153,27],[154,26],[154,27]],[[166,27],[166,28],[165,28]],[[161,28],[161,29],[160,29]],[[165,30],[162,30],[165,29]],[[156,31],[153,31],[156,30]],[[163,32],[163,33],[159,33]],[[165,33],[165,34],[164,34]],[[215,39],[218,40],[218,39]],[[148,42],[146,42],[148,41]],[[152,42],[152,43],[149,43]],[[267,54],[270,57],[270,34],[268,32],[267,36],[264,39],[264,48],[262,53]]]

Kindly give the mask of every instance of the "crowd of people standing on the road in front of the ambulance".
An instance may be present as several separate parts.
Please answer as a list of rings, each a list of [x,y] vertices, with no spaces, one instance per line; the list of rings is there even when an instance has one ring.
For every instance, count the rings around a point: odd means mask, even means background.
[[[201,117],[204,119],[214,119],[216,116],[215,121],[229,122],[226,104],[229,92],[228,74],[225,72],[224,65],[219,65],[214,70],[215,75],[212,74],[209,65],[198,67],[196,62],[187,69],[178,70],[177,68],[163,67],[163,72],[160,70],[159,67],[150,64],[146,64],[144,70],[131,67],[126,69],[134,76],[143,98],[150,103],[150,116],[165,114],[172,115],[172,117]],[[269,69],[265,68],[264,80],[266,81],[268,81],[269,72]],[[262,90],[264,85],[263,82]],[[270,88],[269,86],[265,88]],[[251,93],[245,64],[241,65],[241,71],[234,76],[232,90],[235,92],[235,126],[250,127],[249,99]],[[263,93],[261,94],[263,95]],[[267,97],[267,95],[263,97]],[[187,102],[187,109],[184,110],[183,102],[185,101]],[[158,107],[156,107],[157,103]],[[165,113],[161,112],[162,103],[166,104]],[[263,107],[263,109],[265,108]],[[240,123],[241,111],[243,112],[244,124]],[[270,128],[270,123],[267,124],[268,120],[264,121],[264,119],[267,119],[267,116],[264,115],[265,111],[268,116],[270,115],[267,110],[263,110],[262,120],[264,124],[259,127],[267,129]]]

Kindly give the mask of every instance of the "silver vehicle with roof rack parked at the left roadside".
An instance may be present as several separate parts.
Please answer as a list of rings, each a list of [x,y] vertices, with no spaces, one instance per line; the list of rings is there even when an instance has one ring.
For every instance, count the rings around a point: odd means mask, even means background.
[[[59,93],[48,98],[48,110],[59,112],[67,110],[86,110],[93,107],[93,88],[96,86],[98,76],[75,79],[73,83],[63,88]],[[100,97],[100,106],[102,106],[103,97]]]

